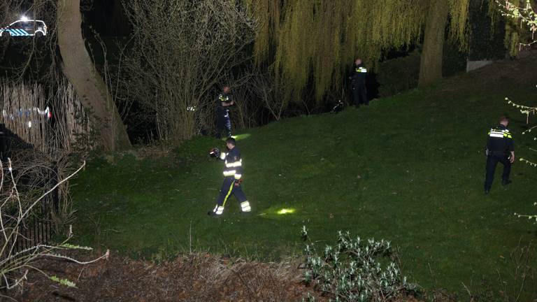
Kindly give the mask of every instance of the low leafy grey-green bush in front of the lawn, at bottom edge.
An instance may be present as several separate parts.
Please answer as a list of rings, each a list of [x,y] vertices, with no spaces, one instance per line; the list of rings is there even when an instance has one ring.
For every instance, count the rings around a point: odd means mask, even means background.
[[[302,236],[308,238],[306,227]],[[325,246],[322,256],[308,241],[305,281],[328,294],[329,301],[392,301],[417,288],[401,275],[388,241],[351,238],[348,231],[339,231],[337,244]],[[306,301],[315,297],[308,294]]]

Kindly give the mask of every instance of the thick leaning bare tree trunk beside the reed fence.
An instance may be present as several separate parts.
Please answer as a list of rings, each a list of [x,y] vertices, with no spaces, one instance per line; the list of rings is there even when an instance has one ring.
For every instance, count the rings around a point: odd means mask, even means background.
[[[114,101],[97,73],[82,37],[80,0],[58,0],[58,45],[62,68],[83,106],[90,110],[105,150],[128,148],[131,143]]]

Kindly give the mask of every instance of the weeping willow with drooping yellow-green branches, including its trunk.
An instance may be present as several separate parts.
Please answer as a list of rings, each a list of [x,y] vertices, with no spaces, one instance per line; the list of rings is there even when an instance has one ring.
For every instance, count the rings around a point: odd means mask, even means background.
[[[464,47],[470,0],[245,0],[257,20],[255,58],[298,100],[310,80],[315,99],[341,87],[345,69],[361,57],[374,65],[385,50],[423,38],[420,85],[441,78],[445,28]]]

